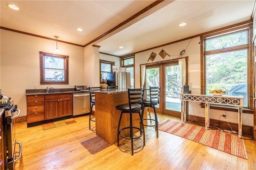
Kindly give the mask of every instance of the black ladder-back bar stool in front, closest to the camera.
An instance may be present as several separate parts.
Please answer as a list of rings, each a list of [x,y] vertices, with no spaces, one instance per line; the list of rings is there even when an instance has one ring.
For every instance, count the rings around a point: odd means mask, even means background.
[[[119,119],[119,123],[118,123],[118,131],[117,131],[117,146],[119,146],[119,136],[126,138],[126,139],[130,139],[131,145],[132,145],[132,152],[131,152],[132,155],[134,154],[133,139],[140,138],[143,135],[143,146],[145,146],[145,132],[144,132],[142,116],[140,113],[140,111],[143,109],[143,95],[144,95],[144,87],[139,88],[139,89],[128,89],[129,103],[116,106],[116,109],[121,111],[121,115],[120,115],[120,119]],[[124,127],[120,130],[120,123],[121,123],[123,113],[130,114],[130,127]],[[132,114],[133,113],[138,113],[140,115],[140,127],[141,128],[132,126]],[[134,128],[140,130],[140,136],[133,137],[132,129],[134,129]],[[124,130],[124,129],[130,129],[129,137],[126,137],[121,134],[122,130]]]

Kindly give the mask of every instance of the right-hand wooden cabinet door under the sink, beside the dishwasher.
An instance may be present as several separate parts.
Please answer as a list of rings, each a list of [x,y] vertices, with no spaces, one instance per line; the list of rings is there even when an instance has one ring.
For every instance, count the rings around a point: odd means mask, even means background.
[[[69,116],[73,114],[72,98],[60,99],[60,117]]]

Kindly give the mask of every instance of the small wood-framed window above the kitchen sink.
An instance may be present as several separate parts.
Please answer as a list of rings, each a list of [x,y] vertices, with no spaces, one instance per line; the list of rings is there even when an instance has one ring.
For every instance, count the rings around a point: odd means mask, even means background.
[[[40,83],[68,84],[68,56],[40,51]]]

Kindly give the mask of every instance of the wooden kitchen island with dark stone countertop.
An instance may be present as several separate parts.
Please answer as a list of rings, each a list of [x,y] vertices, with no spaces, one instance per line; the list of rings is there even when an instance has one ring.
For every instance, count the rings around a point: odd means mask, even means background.
[[[95,117],[96,135],[106,140],[109,144],[117,142],[117,128],[121,111],[116,110],[116,106],[129,103],[128,89],[102,89],[102,90],[81,90],[82,92],[95,93]],[[146,93],[146,91],[145,91]],[[144,114],[146,117],[147,114]],[[129,114],[122,116],[120,129],[130,126]],[[133,126],[140,127],[140,117],[138,114],[132,115]],[[129,136],[129,131],[123,130]],[[135,132],[135,131],[134,131]]]

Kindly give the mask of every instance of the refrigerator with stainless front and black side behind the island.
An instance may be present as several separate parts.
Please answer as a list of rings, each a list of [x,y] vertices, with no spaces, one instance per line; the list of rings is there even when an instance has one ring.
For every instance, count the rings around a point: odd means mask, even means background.
[[[108,86],[118,86],[118,89],[130,88],[130,73],[115,71],[107,74]]]

